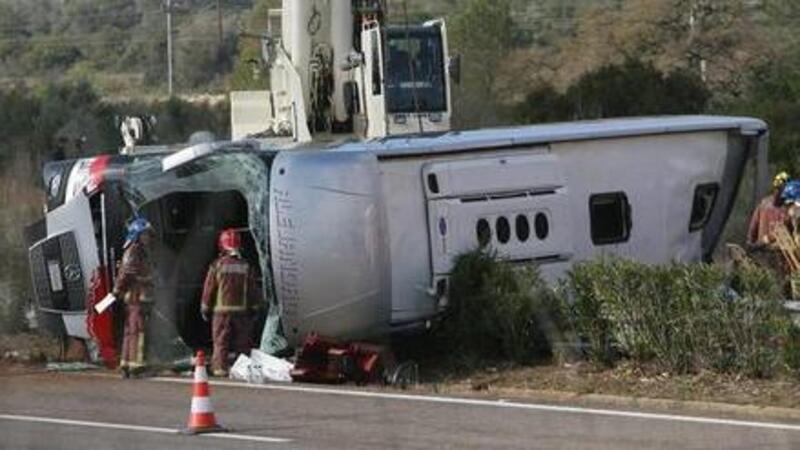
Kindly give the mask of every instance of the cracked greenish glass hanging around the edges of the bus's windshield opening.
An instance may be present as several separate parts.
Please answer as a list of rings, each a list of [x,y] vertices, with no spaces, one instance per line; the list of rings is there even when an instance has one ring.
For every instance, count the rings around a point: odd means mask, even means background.
[[[279,305],[272,290],[273,283],[268,267],[269,175],[273,157],[274,153],[271,152],[220,149],[165,171],[164,158],[143,156],[127,166],[119,180],[125,201],[134,210],[143,211],[156,229],[160,228],[159,222],[164,220],[158,203],[170,194],[229,191],[241,194],[247,203],[248,231],[253,238],[261,269],[263,298],[269,306],[261,340],[261,349],[268,353],[276,353],[286,347],[280,327]],[[209,213],[214,215],[217,212]],[[185,241],[196,242],[188,238]],[[158,242],[154,249],[154,264],[158,275],[155,277],[155,306],[150,318],[148,357],[158,361],[174,360],[190,353],[176,326],[177,320],[185,319],[176,317],[176,303],[181,301],[179,293],[183,291],[180,291],[180,285],[185,284],[186,280],[181,278],[181,267],[174,262],[181,260],[181,253],[191,251],[191,248],[183,248],[170,242]],[[197,275],[204,276],[204,270]],[[199,305],[199,296],[197,297],[183,301]]]

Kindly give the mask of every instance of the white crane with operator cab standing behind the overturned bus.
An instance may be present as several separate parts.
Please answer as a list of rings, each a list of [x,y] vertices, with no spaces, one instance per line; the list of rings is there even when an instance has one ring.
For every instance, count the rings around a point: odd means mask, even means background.
[[[458,58],[443,19],[388,24],[379,0],[283,0],[261,39],[269,91],[231,93],[232,138],[305,143],[450,130]]]

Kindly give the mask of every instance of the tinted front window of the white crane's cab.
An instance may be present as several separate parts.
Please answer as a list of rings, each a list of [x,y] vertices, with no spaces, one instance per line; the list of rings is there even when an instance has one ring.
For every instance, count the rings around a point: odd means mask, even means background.
[[[386,97],[389,112],[433,112],[446,108],[439,29],[390,29]]]

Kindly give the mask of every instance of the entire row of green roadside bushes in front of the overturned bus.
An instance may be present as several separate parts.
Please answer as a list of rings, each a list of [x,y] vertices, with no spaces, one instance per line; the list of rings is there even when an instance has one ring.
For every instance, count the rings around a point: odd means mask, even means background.
[[[473,363],[529,363],[566,335],[602,366],[627,358],[676,374],[766,378],[800,370],[800,327],[779,298],[774,275],[754,265],[601,259],[574,265],[554,290],[535,266],[474,251],[456,260],[440,337]]]

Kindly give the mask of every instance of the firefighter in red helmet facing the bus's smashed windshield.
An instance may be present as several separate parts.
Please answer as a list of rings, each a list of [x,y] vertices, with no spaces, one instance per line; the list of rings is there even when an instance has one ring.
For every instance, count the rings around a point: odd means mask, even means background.
[[[242,258],[241,238],[236,230],[223,230],[218,246],[220,256],[208,268],[200,313],[203,320],[212,322],[211,370],[219,377],[228,373],[230,350],[245,352],[252,347],[254,312],[261,306],[261,295],[254,268]]]

